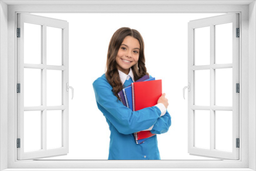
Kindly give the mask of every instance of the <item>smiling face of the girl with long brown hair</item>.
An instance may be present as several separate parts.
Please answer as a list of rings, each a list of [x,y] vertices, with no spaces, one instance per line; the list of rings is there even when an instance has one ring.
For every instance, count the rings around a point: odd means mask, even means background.
[[[126,36],[116,55],[117,69],[128,74],[130,68],[139,60],[140,42],[132,36]]]

